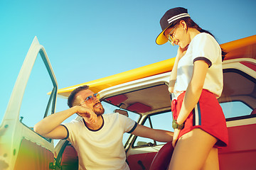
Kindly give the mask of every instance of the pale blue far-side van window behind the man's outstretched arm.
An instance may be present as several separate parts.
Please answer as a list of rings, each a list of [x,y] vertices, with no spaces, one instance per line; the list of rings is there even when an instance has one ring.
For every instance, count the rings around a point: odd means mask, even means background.
[[[150,116],[152,127],[149,123],[149,118],[146,119],[146,122],[144,125],[149,128],[154,128],[154,129],[160,129],[160,130],[169,130],[171,132],[174,131],[172,128],[172,114],[171,112],[166,112],[166,113],[160,113],[157,115],[151,115]],[[156,142],[156,143],[155,143]],[[163,145],[165,142],[157,142],[145,137],[137,137],[137,139],[134,142],[134,147],[146,145],[146,144],[156,144],[156,145]],[[149,144],[150,145],[150,144]]]

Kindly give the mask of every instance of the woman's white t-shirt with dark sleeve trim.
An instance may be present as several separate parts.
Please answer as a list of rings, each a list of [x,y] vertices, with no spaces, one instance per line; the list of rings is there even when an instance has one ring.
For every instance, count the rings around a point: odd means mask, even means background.
[[[178,61],[177,78],[174,86],[174,94],[178,97],[186,91],[193,74],[193,62],[204,60],[209,64],[203,89],[220,97],[223,91],[222,55],[218,42],[208,33],[199,33],[188,45],[186,55]]]

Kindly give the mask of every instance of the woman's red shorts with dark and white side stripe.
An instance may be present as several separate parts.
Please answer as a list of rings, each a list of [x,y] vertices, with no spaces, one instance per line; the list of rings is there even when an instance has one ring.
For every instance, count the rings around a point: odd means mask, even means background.
[[[173,112],[174,119],[178,118],[185,94],[184,92],[179,95],[177,100],[173,100],[171,103],[171,111]],[[223,110],[214,94],[206,89],[203,89],[196,107],[193,108],[193,111],[191,111],[184,122],[184,128],[178,135],[178,139],[195,128],[201,128],[217,138],[218,141],[214,147],[227,147],[228,128]]]

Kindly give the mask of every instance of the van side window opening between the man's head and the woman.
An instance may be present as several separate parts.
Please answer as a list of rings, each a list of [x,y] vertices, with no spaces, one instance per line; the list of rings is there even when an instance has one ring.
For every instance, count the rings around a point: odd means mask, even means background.
[[[129,118],[132,118],[135,121],[142,118],[141,120],[144,121],[144,125],[149,128],[151,128],[151,120],[153,128],[170,130],[165,126],[170,125],[169,127],[171,127],[171,112],[169,112],[171,110],[171,98],[168,86],[164,81],[161,81],[158,84],[138,86],[127,93],[102,98],[102,100],[105,101],[105,103],[111,103],[112,106],[116,106],[116,108],[123,108],[128,111]],[[113,108],[110,109],[110,111],[113,111]],[[150,116],[144,117],[144,115],[147,114],[150,114]],[[165,123],[165,121],[168,123]],[[128,137],[129,134],[124,134],[123,142],[128,139]],[[137,137],[136,141],[139,143],[135,145],[134,142],[132,142],[132,145],[135,147],[145,144],[147,145],[147,143],[149,143],[149,145],[159,145],[159,143],[156,144],[153,140],[141,137]]]

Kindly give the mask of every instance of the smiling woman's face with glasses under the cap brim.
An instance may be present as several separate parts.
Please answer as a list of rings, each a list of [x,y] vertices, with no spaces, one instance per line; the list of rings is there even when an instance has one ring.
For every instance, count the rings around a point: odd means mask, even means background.
[[[184,25],[185,24],[185,25]],[[186,23],[182,23],[182,21],[177,24],[174,27],[167,28],[166,31],[164,31],[164,35],[166,38],[172,39],[171,43],[173,45],[178,45],[181,48],[186,47],[189,44],[189,38],[186,31]]]

